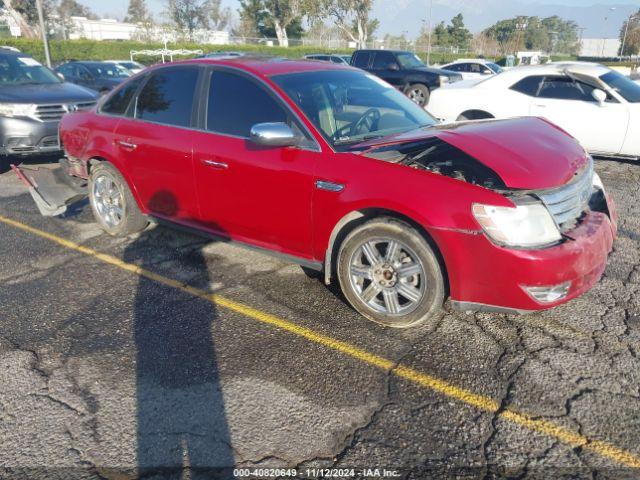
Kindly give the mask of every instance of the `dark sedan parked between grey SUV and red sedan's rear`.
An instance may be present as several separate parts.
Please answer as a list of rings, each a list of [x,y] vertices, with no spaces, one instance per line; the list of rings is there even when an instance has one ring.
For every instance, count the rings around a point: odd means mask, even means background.
[[[101,94],[110,91],[132,73],[110,62],[68,62],[56,68],[68,82],[82,85]]]

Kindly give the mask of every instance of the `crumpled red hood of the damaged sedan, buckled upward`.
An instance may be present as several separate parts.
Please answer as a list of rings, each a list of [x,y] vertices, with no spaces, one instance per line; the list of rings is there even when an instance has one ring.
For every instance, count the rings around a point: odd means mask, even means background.
[[[438,137],[492,169],[511,189],[543,190],[568,183],[589,157],[578,142],[535,117],[438,125],[364,144],[364,154],[382,146]]]

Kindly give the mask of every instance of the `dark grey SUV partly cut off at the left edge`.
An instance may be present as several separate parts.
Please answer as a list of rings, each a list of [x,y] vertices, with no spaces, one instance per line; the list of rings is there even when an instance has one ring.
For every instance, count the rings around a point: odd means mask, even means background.
[[[60,151],[60,118],[92,108],[97,98],[91,90],[64,83],[32,57],[0,49],[0,154]]]

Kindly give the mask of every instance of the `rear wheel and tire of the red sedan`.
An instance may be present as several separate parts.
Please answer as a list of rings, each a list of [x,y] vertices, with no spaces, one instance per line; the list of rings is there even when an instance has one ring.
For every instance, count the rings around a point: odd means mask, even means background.
[[[114,237],[141,232],[149,224],[127,182],[108,162],[100,162],[91,169],[89,203],[100,227]]]

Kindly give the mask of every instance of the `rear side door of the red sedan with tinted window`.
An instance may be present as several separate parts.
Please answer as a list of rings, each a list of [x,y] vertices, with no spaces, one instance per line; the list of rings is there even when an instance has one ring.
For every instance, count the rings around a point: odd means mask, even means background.
[[[114,142],[143,208],[181,223],[197,222],[193,180],[197,66],[154,71],[116,128]]]

